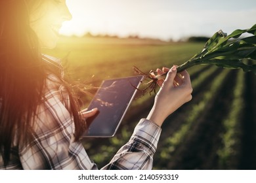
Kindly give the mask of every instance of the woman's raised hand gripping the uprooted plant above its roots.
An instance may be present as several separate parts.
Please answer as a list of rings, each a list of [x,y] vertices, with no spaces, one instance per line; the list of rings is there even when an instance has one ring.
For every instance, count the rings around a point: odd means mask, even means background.
[[[158,75],[168,73],[165,80],[158,81],[161,88],[147,119],[161,126],[167,116],[192,99],[192,86],[188,72],[177,74],[176,66],[171,69],[164,67],[163,71],[158,69],[157,72]]]

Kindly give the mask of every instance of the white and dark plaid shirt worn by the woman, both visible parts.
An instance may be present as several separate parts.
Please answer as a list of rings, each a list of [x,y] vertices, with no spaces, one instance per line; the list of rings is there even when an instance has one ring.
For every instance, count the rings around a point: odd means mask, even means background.
[[[74,141],[74,120],[65,88],[49,75],[45,100],[34,122],[35,137],[28,146],[12,147],[11,161],[0,169],[98,169],[81,142]],[[102,169],[152,169],[161,128],[140,120],[127,144]]]

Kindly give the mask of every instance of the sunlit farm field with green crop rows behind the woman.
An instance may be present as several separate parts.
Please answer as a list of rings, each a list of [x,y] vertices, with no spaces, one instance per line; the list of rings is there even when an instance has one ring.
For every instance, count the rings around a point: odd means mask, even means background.
[[[136,75],[134,65],[145,73],[180,65],[203,44],[62,37],[54,50],[43,52],[62,58],[66,75],[88,86],[88,95],[80,94],[86,107],[102,80]],[[191,67],[188,73],[193,99],[165,120],[154,169],[256,169],[256,75],[208,65]],[[82,140],[99,168],[129,140],[152,107],[154,93],[139,94],[115,137]]]

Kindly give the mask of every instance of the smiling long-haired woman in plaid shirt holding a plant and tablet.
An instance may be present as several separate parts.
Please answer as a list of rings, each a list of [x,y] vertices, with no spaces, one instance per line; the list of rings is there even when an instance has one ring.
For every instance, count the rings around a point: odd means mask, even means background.
[[[58,60],[40,52],[72,18],[66,1],[1,1],[0,14],[0,169],[97,169],[79,142],[97,109],[79,112]],[[161,124],[192,99],[188,73],[165,72],[152,110],[102,169],[152,169]]]

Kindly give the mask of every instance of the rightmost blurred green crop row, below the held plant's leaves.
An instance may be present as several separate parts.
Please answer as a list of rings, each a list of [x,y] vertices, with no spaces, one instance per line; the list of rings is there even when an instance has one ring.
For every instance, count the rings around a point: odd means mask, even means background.
[[[239,71],[236,78],[236,86],[233,92],[233,100],[227,118],[223,120],[223,133],[221,133],[222,146],[217,150],[219,156],[219,169],[232,169],[238,167],[234,159],[238,159],[240,146],[240,121],[244,110],[244,73]]]

